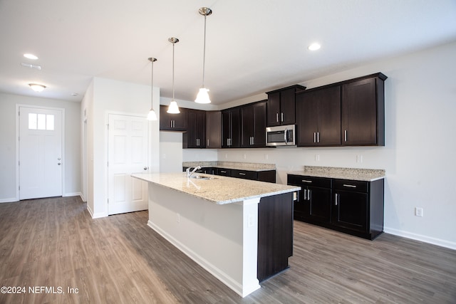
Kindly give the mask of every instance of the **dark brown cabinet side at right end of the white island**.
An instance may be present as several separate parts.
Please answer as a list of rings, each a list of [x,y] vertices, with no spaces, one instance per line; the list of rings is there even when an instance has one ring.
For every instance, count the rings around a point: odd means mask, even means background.
[[[264,281],[289,267],[293,256],[293,194],[262,197],[258,205],[257,278]]]

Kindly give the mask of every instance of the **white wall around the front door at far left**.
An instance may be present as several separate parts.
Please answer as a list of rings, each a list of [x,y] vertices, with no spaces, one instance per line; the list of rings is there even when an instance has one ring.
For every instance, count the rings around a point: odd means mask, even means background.
[[[0,93],[0,202],[16,201],[16,105],[65,109],[64,196],[81,192],[79,103]]]

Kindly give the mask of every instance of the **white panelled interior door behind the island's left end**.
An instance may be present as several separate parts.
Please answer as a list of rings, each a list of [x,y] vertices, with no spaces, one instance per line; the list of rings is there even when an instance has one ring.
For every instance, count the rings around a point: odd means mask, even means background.
[[[148,170],[145,117],[108,117],[108,214],[147,209],[147,182],[130,176]]]

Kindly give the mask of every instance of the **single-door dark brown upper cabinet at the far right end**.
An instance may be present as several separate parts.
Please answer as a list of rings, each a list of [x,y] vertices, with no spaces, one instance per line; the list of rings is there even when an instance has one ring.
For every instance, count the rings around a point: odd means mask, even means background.
[[[342,145],[385,145],[386,78],[382,73],[376,73],[341,85]]]

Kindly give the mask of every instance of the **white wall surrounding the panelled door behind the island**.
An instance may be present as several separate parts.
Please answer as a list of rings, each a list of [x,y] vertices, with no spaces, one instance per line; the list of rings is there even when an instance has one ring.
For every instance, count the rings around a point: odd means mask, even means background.
[[[159,88],[153,88],[153,94],[153,107],[157,112],[157,117],[160,117],[158,111]],[[90,133],[88,135],[90,141],[88,144],[88,209],[93,218],[96,218],[108,216],[108,115],[115,113],[147,116],[150,110],[151,90],[147,85],[94,78],[86,95],[88,97],[81,103],[81,112],[88,109],[87,121]],[[151,172],[159,172],[158,121],[150,122],[149,126],[149,167]],[[93,162],[93,165],[90,162]]]

